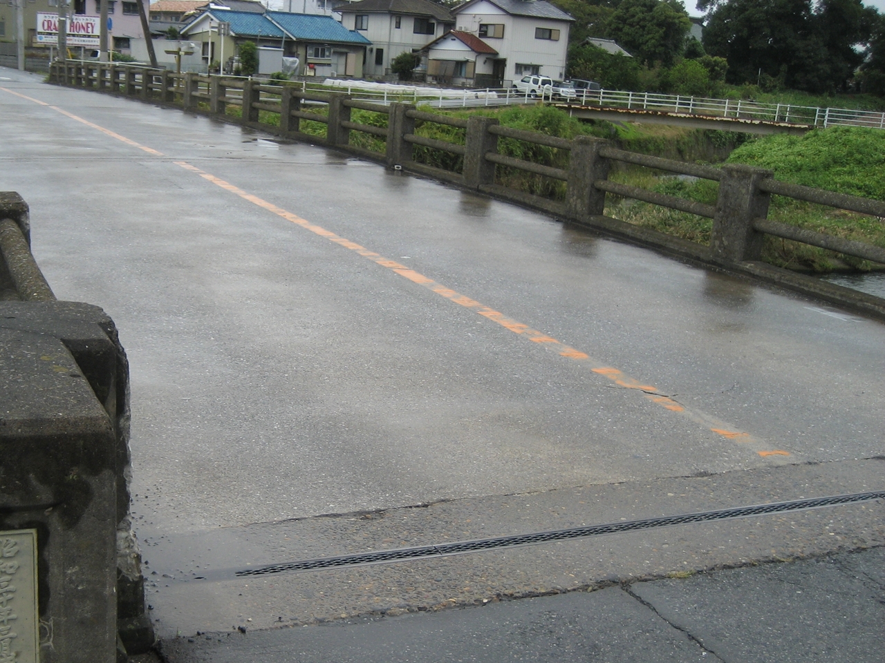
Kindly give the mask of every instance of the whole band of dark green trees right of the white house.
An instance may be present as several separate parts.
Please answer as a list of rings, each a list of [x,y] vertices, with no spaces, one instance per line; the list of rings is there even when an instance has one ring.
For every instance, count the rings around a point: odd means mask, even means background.
[[[697,0],[703,42],[680,0],[550,0],[575,18],[573,78],[604,88],[716,95],[723,84],[885,96],[885,15],[861,0]],[[618,42],[634,57],[585,42]]]

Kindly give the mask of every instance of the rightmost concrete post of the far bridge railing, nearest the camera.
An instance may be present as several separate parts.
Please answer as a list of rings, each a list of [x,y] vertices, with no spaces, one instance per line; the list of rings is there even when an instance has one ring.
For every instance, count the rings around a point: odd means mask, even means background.
[[[710,237],[714,258],[735,263],[759,259],[764,234],[753,230],[753,219],[768,215],[771,196],[759,191],[758,184],[773,174],[743,164],[722,166]]]

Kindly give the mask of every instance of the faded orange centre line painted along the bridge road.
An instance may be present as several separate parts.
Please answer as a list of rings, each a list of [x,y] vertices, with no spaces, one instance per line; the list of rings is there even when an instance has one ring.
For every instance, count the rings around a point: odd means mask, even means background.
[[[4,92],[9,92],[12,95],[20,96],[29,101],[39,103],[43,106],[49,106],[52,110],[57,110],[59,113],[65,115],[66,117],[76,120],[77,122],[81,122],[86,126],[93,127],[96,130],[104,133],[105,135],[110,136],[118,141],[122,141],[127,145],[142,149],[145,152],[148,152],[155,156],[165,156],[162,152],[158,152],[158,150],[156,149],[145,147],[138,142],[132,141],[131,139],[120,135],[119,133],[112,132],[109,129],[105,129],[102,126],[98,126],[92,122],[89,122],[89,120],[73,115],[73,113],[69,113],[66,110],[62,110],[58,108],[58,106],[50,106],[50,104],[48,103],[43,103],[29,96],[19,95],[19,93],[12,92],[12,90],[8,90],[6,88],[0,88],[0,90],[3,90]],[[216,185],[217,187],[221,187],[226,191],[241,197],[243,200],[251,202],[258,207],[277,215],[278,217],[282,217],[293,224],[300,225],[304,229],[314,232],[320,237],[325,237],[327,240],[333,241],[335,242],[335,244],[338,244],[343,248],[348,248],[351,251],[355,251],[356,253],[358,253],[358,255],[362,255],[369,260],[372,260],[373,263],[379,264],[381,265],[381,267],[386,267],[387,269],[396,272],[396,274],[398,274],[399,276],[403,278],[408,278],[410,281],[412,281],[412,283],[426,287],[431,292],[439,294],[446,299],[458,304],[459,306],[463,306],[466,309],[473,309],[479,315],[487,317],[489,318],[489,320],[500,324],[502,327],[504,327],[504,329],[519,334],[520,336],[523,336],[524,338],[534,343],[538,343],[541,347],[555,352],[561,357],[565,357],[566,359],[588,365],[589,369],[596,373],[596,375],[612,380],[615,385],[618,385],[625,389],[633,389],[639,392],[643,392],[645,398],[651,400],[651,402],[669,410],[670,412],[676,412],[680,415],[688,417],[690,421],[704,426],[709,431],[720,435],[722,438],[739,442],[741,446],[749,448],[750,450],[758,453],[758,455],[763,458],[778,459],[782,456],[790,455],[789,452],[783,451],[781,449],[770,449],[768,448],[770,447],[770,445],[768,445],[763,439],[755,438],[754,436],[750,435],[750,433],[740,431],[739,429],[736,429],[735,426],[724,423],[719,419],[713,417],[712,415],[707,415],[703,411],[687,408],[676,400],[673,400],[673,397],[659,392],[658,389],[653,385],[643,384],[643,382],[636,380],[633,377],[627,376],[620,370],[612,368],[611,366],[607,366],[604,362],[599,362],[593,359],[592,357],[590,357],[589,354],[581,352],[581,350],[566,346],[565,343],[562,343],[558,339],[554,339],[543,331],[532,329],[527,324],[522,324],[510,317],[504,316],[503,313],[496,311],[495,309],[490,309],[489,307],[481,304],[479,301],[475,301],[463,294],[450,289],[449,287],[443,286],[443,284],[437,283],[433,278],[428,278],[423,274],[410,269],[404,264],[397,263],[394,260],[389,260],[389,258],[385,258],[384,256],[379,255],[368,248],[360,246],[357,242],[340,237],[335,232],[329,231],[322,226],[312,224],[307,219],[299,217],[298,215],[293,214],[288,210],[284,210],[281,207],[274,205],[273,202],[267,202],[263,198],[259,198],[257,195],[250,194],[242,190],[240,187],[236,187],[235,185],[225,181],[224,179],[215,177],[211,173],[203,171],[186,161],[174,161],[173,164],[178,165],[187,171],[193,172],[196,175],[199,175],[203,179],[212,182],[212,184]]]

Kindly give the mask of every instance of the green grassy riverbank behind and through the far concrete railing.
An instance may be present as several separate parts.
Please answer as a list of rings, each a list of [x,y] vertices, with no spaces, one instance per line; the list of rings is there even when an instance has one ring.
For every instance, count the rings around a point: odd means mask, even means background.
[[[792,100],[790,103],[793,103]],[[315,108],[319,113],[325,112],[325,107]],[[231,108],[229,112],[238,115],[239,110]],[[312,110],[312,107],[304,107],[304,110]],[[831,127],[827,130],[815,130],[804,136],[780,134],[752,139],[740,133],[672,126],[581,122],[569,118],[561,110],[542,105],[434,112],[460,118],[481,113],[498,118],[504,126],[566,139],[581,134],[594,135],[612,140],[623,149],[682,161],[715,164],[727,160],[731,163],[756,165],[773,170],[776,179],[885,200],[885,131]],[[387,126],[386,115],[366,110],[353,109],[351,119],[360,124]],[[279,122],[279,116],[261,111],[261,121],[275,125]],[[326,127],[322,123],[304,120],[301,130],[318,136],[326,133]],[[415,133],[437,140],[464,142],[464,130],[434,123],[419,122]],[[351,132],[350,135],[352,145],[378,152],[384,150],[384,141],[370,134]],[[565,168],[568,164],[566,152],[523,141],[501,138],[499,149],[503,154],[538,164],[560,168]],[[416,147],[415,159],[451,171],[460,171],[462,166],[460,156],[423,147]],[[690,200],[710,204],[716,201],[718,185],[712,181],[675,178],[661,171],[633,166],[613,169],[610,177]],[[497,167],[496,179],[505,186],[551,199],[561,200],[565,195],[563,182],[500,165]],[[712,228],[710,219],[644,202],[623,200],[611,194],[608,200],[605,210],[608,216],[687,240],[709,243]],[[781,196],[773,196],[768,216],[816,232],[885,247],[885,221],[875,217],[832,210]],[[763,248],[763,260],[789,269],[812,272],[881,269],[881,265],[768,236]]]

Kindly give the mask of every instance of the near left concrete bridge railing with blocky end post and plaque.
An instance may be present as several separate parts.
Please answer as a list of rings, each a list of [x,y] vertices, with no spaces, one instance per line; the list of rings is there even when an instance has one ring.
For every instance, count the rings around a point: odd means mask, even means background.
[[[2,192],[0,287],[0,658],[126,660],[153,644],[128,518],[126,353],[102,309],[56,301],[27,204]],[[18,537],[35,551],[10,564]]]

